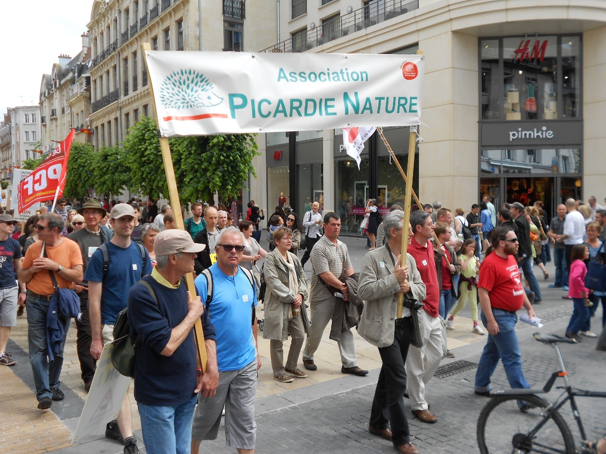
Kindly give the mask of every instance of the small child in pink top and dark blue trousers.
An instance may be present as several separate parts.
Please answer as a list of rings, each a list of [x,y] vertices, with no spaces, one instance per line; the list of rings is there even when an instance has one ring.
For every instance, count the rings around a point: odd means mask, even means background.
[[[574,310],[570,323],[566,329],[566,337],[575,339],[581,342],[579,331],[585,326],[585,323],[591,317],[590,309],[585,306],[585,298],[590,294],[590,290],[585,287],[585,275],[587,274],[587,266],[583,260],[589,258],[589,249],[587,245],[574,245],[571,251],[570,274],[568,277],[568,295],[574,302]]]

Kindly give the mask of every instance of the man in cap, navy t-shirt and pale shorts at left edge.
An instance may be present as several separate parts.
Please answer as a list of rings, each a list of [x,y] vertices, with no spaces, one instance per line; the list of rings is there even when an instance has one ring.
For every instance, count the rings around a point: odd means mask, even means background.
[[[0,366],[17,364],[6,352],[6,343],[10,328],[17,326],[18,303],[25,303],[25,283],[15,281],[15,271],[19,274],[23,260],[21,246],[10,237],[16,223],[10,214],[0,214]]]

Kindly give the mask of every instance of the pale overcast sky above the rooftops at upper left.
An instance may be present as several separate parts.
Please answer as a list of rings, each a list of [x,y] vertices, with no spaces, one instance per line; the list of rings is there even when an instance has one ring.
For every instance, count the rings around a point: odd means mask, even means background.
[[[93,0],[1,0],[0,114],[7,107],[36,105],[42,74],[59,54],[82,50]]]

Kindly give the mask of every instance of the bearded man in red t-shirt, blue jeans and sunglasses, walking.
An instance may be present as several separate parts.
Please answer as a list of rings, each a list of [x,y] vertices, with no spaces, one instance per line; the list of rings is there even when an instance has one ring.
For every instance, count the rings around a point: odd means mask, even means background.
[[[530,388],[522,372],[522,352],[516,335],[516,312],[524,306],[528,317],[536,315],[522,287],[515,258],[518,244],[516,234],[510,228],[494,229],[494,252],[484,259],[480,267],[478,296],[482,306],[482,323],[488,329],[488,341],[476,371],[474,392],[478,395],[490,396],[490,377],[499,359],[512,389]],[[527,403],[520,405],[522,410],[528,406]]]

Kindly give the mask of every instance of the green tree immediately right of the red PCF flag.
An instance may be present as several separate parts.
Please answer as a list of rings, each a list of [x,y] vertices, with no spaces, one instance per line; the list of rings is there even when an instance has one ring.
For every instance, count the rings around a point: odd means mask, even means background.
[[[88,194],[89,188],[95,188],[95,172],[98,155],[89,143],[73,142],[70,157],[67,161],[65,178],[65,197],[80,199]]]

